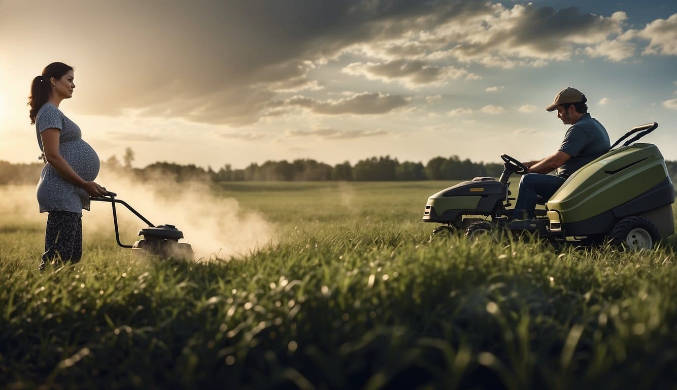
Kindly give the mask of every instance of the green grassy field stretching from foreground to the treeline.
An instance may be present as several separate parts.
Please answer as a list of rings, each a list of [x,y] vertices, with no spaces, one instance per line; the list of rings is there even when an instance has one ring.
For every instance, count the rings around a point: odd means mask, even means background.
[[[17,203],[0,219],[0,388],[677,389],[674,237],[429,243],[427,196],[449,185],[223,184],[213,213],[236,199],[230,231],[265,222],[267,245],[131,259],[106,220],[81,263],[44,274],[43,217]]]

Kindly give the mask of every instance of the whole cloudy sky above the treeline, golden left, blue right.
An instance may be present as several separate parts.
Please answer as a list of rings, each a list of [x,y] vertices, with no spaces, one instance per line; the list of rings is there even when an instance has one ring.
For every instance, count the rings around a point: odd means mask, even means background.
[[[677,160],[674,0],[0,0],[0,160],[37,161],[26,102],[55,61],[60,109],[135,167],[534,160],[565,87],[612,142],[657,122],[642,142]]]

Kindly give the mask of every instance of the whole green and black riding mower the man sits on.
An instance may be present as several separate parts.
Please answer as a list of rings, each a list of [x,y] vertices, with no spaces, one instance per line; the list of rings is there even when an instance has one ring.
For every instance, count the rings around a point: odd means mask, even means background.
[[[503,154],[505,169],[498,181],[475,177],[445,188],[428,198],[423,221],[442,223],[431,238],[464,231],[479,234],[524,232],[553,244],[600,244],[653,248],[655,242],[674,234],[672,203],[675,192],[665,160],[653,144],[633,144],[658,127],[641,125],[628,131],[609,151],[575,171],[534,219],[510,221],[512,209],[508,178],[524,174],[527,167]],[[623,146],[613,149],[630,137]]]

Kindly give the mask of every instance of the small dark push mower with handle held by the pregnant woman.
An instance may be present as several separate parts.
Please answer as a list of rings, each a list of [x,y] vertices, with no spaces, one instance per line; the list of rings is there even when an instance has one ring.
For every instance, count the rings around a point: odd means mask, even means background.
[[[115,196],[117,196],[117,194],[109,191],[106,196],[92,197],[90,199],[99,202],[110,202],[110,204],[112,204],[115,240],[118,242],[119,246],[131,248],[132,255],[153,255],[160,257],[160,259],[174,260],[192,260],[194,258],[193,248],[190,244],[179,242],[179,239],[183,238],[183,232],[181,232],[181,230],[178,230],[174,225],[153,225],[138,211],[129,206],[127,202],[116,199]],[[148,224],[148,228],[139,231],[139,236],[144,236],[144,238],[134,242],[133,245],[125,245],[120,242],[118,217],[115,211],[116,203],[120,203],[127,207],[127,209],[139,217],[141,221]]]

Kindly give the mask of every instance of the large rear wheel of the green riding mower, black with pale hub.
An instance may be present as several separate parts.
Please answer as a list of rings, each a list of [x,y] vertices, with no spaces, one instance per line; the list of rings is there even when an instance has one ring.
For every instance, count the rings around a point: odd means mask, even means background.
[[[612,246],[638,251],[653,249],[653,245],[661,236],[649,219],[633,215],[618,221],[611,230],[609,238],[611,238]]]

